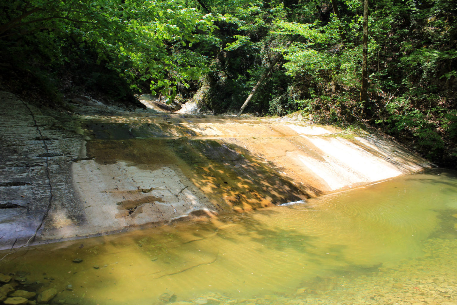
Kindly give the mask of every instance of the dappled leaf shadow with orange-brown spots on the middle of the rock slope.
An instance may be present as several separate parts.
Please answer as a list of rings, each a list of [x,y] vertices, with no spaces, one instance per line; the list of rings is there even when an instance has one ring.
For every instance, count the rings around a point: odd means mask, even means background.
[[[187,139],[170,144],[189,166],[187,177],[221,207],[241,212],[310,197],[279,168],[238,145]]]

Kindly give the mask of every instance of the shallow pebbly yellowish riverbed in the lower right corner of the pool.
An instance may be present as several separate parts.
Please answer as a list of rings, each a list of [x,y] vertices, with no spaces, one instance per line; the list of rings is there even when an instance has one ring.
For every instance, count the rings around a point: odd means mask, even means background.
[[[430,239],[423,257],[372,270],[345,270],[330,278],[315,278],[295,294],[243,299],[217,293],[169,305],[457,305],[457,239]]]

